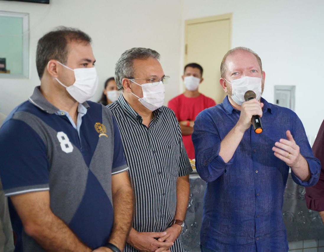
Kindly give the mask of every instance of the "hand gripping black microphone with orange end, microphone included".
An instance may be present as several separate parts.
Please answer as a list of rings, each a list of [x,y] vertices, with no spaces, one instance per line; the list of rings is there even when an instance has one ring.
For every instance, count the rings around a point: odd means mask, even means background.
[[[262,132],[260,117],[262,117],[263,103],[257,101],[255,97],[255,93],[250,90],[244,95],[246,102],[242,104],[241,115],[237,122],[243,132],[250,128],[251,123],[256,133]]]

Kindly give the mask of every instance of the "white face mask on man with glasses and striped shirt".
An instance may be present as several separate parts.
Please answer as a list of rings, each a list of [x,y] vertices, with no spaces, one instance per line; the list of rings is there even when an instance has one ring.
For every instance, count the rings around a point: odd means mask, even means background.
[[[130,79],[130,81],[132,80]],[[138,97],[133,92],[132,94],[138,98],[139,102],[142,103],[146,109],[154,111],[163,105],[165,89],[162,81],[142,85],[134,81],[132,82],[138,86],[142,86],[143,98]]]

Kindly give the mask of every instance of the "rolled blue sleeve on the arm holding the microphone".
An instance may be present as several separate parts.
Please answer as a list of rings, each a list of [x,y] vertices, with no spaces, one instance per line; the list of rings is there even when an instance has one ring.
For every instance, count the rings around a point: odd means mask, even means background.
[[[225,163],[219,155],[221,139],[206,110],[196,117],[191,137],[199,176],[207,182],[216,180],[233,163],[234,157]]]

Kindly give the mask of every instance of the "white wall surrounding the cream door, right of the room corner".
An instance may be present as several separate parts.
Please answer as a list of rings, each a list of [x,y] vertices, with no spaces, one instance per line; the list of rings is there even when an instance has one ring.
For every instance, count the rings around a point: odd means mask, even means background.
[[[324,1],[181,0],[181,6],[182,63],[184,20],[233,13],[232,48],[260,55],[263,97],[273,103],[274,85],[295,85],[295,112],[307,134],[317,134],[324,119]]]

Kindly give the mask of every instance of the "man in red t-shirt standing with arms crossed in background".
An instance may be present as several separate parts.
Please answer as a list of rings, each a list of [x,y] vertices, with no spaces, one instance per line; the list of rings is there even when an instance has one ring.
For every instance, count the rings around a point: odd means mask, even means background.
[[[168,107],[173,110],[180,124],[184,147],[188,157],[195,158],[195,151],[191,141],[193,132],[193,122],[196,116],[216,103],[212,98],[199,93],[199,85],[203,82],[203,68],[197,63],[189,63],[184,67],[184,73],[181,76],[186,91],[174,97],[168,102]]]

